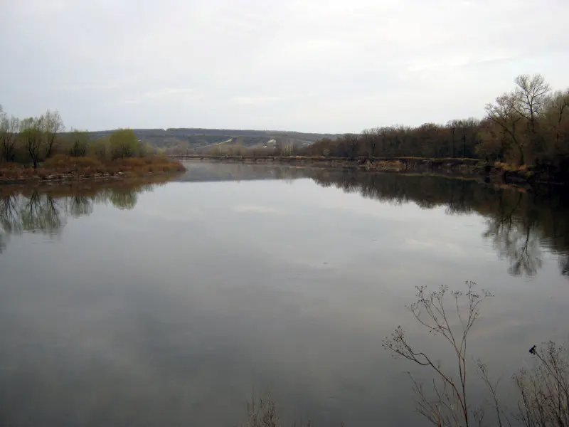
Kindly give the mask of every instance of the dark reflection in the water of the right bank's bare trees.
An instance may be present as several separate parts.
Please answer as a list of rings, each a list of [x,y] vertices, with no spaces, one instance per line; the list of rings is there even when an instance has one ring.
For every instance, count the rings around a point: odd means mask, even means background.
[[[499,256],[510,262],[511,275],[534,275],[542,266],[541,250],[569,253],[569,197],[562,189],[486,186],[477,181],[440,176],[353,173],[308,170],[321,186],[402,204],[413,201],[422,209],[445,207],[447,214],[477,212],[488,220],[490,238]],[[569,258],[560,264],[568,275]]]

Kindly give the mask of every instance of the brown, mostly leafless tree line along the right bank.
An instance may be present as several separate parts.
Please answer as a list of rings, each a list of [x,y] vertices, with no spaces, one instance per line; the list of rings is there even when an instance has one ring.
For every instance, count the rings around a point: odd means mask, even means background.
[[[320,139],[297,154],[331,157],[452,157],[516,165],[569,166],[569,89],[519,75],[513,90],[485,106],[482,120],[376,127]]]

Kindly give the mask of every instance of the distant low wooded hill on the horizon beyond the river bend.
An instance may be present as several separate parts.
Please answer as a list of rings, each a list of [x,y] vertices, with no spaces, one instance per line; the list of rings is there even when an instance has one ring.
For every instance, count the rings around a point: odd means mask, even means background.
[[[89,132],[92,139],[106,137],[112,130]],[[304,132],[284,132],[278,130],[231,130],[231,129],[134,129],[142,142],[153,147],[165,149],[169,154],[200,152],[215,145],[240,144],[248,148],[271,147],[277,143],[292,144],[294,147],[307,147],[318,139],[336,139],[339,135]]]

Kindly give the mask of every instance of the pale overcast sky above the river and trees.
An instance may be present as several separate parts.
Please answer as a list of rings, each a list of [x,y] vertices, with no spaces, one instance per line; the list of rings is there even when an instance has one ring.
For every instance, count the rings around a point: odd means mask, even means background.
[[[567,0],[0,0],[0,103],[67,127],[358,132],[569,86]]]

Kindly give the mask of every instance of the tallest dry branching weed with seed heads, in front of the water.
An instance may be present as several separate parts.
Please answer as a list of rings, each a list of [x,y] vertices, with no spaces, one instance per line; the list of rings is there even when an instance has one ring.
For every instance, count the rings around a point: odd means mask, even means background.
[[[467,282],[468,291],[466,293],[453,291],[450,292],[454,300],[454,310],[448,310],[445,303],[448,287],[440,286],[438,290],[427,291],[425,286],[417,287],[417,302],[408,307],[418,320],[420,325],[425,327],[431,334],[445,339],[452,349],[457,360],[459,379],[454,380],[452,375],[442,369],[440,364],[435,364],[432,358],[416,350],[408,341],[407,335],[402,327],[397,327],[395,331],[383,340],[383,347],[391,352],[405,357],[405,359],[415,362],[423,367],[428,367],[435,372],[442,382],[437,385],[433,381],[433,391],[435,399],[429,399],[423,389],[422,384],[413,379],[413,385],[418,396],[418,412],[425,416],[435,426],[466,426],[473,419],[480,421],[481,413],[472,411],[467,399],[467,337],[472,325],[479,317],[479,306],[486,299],[492,296],[489,292],[482,290],[481,293],[474,292],[474,282]],[[461,309],[459,300],[465,297],[467,309]],[[465,312],[464,312],[465,311]],[[451,326],[451,315],[456,315],[459,327]]]

